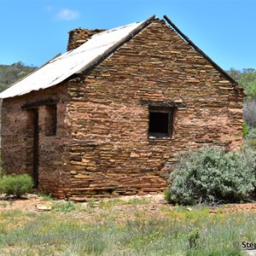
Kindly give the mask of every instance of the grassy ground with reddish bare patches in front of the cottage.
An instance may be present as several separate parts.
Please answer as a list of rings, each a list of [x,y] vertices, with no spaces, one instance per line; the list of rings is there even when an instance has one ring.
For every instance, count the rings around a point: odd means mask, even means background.
[[[38,212],[39,205],[52,208]],[[255,230],[253,204],[173,207],[162,195],[82,204],[32,195],[0,201],[0,255],[235,256],[243,255],[242,241],[255,240]]]

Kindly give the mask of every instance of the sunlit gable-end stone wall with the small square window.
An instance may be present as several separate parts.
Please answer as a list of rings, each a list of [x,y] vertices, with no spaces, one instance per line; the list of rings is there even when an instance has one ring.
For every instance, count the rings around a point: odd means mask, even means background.
[[[177,154],[242,136],[242,92],[176,32],[155,21],[69,84],[73,200],[166,188]],[[148,106],[183,102],[172,138],[148,138]]]

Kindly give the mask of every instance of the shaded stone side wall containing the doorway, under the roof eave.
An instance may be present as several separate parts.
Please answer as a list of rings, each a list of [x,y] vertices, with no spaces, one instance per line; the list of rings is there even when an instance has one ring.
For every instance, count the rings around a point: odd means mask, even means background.
[[[33,108],[23,109],[27,103],[42,100],[57,100],[56,133],[53,135],[49,125],[49,107],[38,108],[38,189],[63,197],[68,187],[68,175],[65,170],[67,157],[68,129],[66,118],[67,87],[59,85],[47,90],[32,92],[26,96],[17,96],[3,100],[2,113],[2,159],[3,171],[11,173],[29,173],[33,177]]]

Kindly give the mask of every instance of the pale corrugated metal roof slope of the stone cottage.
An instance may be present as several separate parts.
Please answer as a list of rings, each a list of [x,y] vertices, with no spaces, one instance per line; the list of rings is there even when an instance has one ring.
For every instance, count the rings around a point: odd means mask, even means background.
[[[152,18],[154,17],[150,19]],[[4,90],[0,93],[0,98],[21,96],[32,90],[46,89],[60,84],[74,73],[79,73],[86,67],[90,67],[91,63],[108,53],[109,49],[136,31],[146,21],[120,26],[92,36],[89,41],[77,49],[55,57],[25,79],[21,79],[9,89]]]

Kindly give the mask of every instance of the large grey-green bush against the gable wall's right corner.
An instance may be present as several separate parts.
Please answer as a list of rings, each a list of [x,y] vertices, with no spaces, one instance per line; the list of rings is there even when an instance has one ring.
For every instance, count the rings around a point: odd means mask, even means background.
[[[169,202],[235,202],[246,199],[255,186],[255,164],[246,150],[225,153],[217,147],[201,148],[179,156],[165,191]]]

